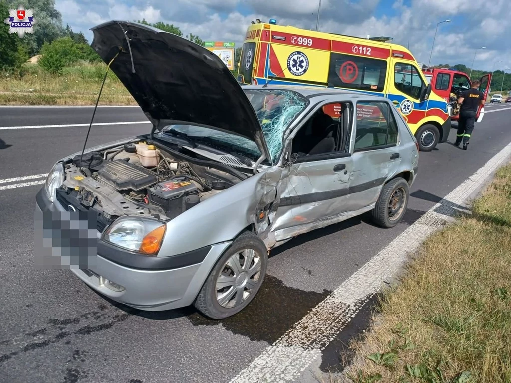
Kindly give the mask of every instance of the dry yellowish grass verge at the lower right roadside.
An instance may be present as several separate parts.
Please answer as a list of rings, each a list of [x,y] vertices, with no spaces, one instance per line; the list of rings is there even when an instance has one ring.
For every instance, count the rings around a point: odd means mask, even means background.
[[[511,382],[511,164],[436,233],[352,344],[368,382]]]

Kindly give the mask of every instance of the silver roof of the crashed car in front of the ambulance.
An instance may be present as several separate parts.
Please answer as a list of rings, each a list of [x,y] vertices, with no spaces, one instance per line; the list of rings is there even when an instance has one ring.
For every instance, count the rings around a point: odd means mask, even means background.
[[[355,101],[363,99],[364,101],[381,101],[382,97],[370,95],[362,92],[342,90],[336,88],[324,88],[308,85],[242,85],[242,89],[267,89],[267,90],[293,90],[300,93],[308,99],[321,98],[331,96],[336,101]],[[386,99],[386,98],[385,98]]]

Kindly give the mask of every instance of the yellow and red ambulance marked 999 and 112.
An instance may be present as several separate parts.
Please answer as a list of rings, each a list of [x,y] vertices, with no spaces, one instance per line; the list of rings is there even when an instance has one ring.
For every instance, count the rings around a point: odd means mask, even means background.
[[[341,88],[390,99],[422,151],[445,142],[452,107],[431,91],[419,64],[390,38],[358,38],[253,23],[238,63],[242,84],[307,85]]]

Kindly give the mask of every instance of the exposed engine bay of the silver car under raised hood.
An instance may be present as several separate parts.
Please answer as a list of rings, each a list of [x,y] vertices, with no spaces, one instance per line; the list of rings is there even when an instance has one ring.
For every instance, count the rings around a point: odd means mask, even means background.
[[[76,155],[64,163],[57,201],[72,210],[98,212],[101,231],[126,215],[171,220],[249,176],[214,161],[179,159],[155,143],[141,139]]]

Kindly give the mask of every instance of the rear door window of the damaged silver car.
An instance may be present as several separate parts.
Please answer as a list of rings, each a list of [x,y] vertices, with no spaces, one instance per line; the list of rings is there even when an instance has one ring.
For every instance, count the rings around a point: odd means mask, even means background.
[[[385,102],[357,103],[355,151],[387,148],[398,142],[398,125]]]

